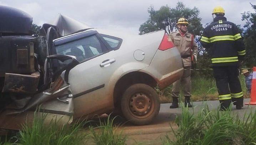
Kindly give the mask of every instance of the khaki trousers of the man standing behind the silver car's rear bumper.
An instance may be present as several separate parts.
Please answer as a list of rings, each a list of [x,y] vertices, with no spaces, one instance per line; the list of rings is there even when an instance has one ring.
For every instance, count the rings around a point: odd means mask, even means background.
[[[191,66],[184,66],[183,68],[185,69],[183,76],[173,83],[172,97],[179,97],[180,86],[183,87],[184,96],[191,97]]]

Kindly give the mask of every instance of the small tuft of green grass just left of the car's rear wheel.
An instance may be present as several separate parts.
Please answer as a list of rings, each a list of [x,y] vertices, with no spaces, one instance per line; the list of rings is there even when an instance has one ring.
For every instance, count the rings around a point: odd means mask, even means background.
[[[127,136],[122,135],[122,131],[117,133],[118,126],[114,126],[113,122],[116,117],[110,119],[108,116],[106,122],[100,120],[98,127],[90,127],[91,138],[96,145],[124,145],[127,141]]]

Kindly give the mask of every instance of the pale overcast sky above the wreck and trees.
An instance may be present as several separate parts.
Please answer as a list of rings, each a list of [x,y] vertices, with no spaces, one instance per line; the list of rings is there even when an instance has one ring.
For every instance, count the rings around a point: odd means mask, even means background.
[[[198,7],[201,23],[212,20],[211,13],[217,5],[224,7],[228,21],[242,26],[241,13],[255,12],[250,2],[256,0],[179,0],[186,7]],[[147,9],[153,5],[158,10],[163,5],[175,7],[178,0],[0,0],[0,5],[21,9],[33,17],[37,25],[48,23],[59,13],[89,26],[109,29],[125,29],[138,33],[140,24],[145,22],[149,14]]]

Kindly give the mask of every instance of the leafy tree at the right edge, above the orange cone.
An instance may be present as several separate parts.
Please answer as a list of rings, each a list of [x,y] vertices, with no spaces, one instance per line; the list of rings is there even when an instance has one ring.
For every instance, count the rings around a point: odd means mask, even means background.
[[[250,3],[251,4],[251,3]],[[252,5],[256,12],[256,5]],[[244,28],[244,42],[245,42],[245,64],[252,67],[256,65],[256,13],[244,12],[242,13],[242,21],[246,21]]]

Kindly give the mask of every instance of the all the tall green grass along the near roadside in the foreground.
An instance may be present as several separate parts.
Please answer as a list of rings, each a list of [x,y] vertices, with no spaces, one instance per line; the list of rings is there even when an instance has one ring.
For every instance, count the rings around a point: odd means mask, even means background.
[[[116,131],[118,125],[114,118],[99,121],[99,125],[88,121],[71,125],[57,125],[52,119],[45,125],[46,115],[36,116],[32,126],[24,124],[10,139],[3,139],[0,145],[125,145],[127,136]],[[181,115],[175,119],[178,129],[171,126],[174,139],[168,135],[162,138],[163,145],[255,145],[256,112],[255,109],[239,117],[233,111],[210,111],[208,106],[200,108],[198,113],[193,109],[181,106]],[[140,143],[138,143],[140,144]],[[143,143],[142,143],[143,144]]]

